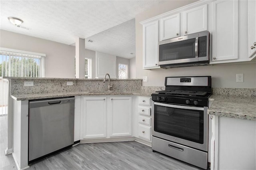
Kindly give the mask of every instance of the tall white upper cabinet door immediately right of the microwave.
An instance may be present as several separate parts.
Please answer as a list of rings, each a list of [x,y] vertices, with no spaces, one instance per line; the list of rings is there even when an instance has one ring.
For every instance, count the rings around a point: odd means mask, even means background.
[[[238,59],[237,0],[213,2],[212,27],[212,61]]]

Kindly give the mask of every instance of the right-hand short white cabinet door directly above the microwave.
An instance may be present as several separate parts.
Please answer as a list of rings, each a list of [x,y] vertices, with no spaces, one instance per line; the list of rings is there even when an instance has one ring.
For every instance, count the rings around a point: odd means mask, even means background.
[[[207,30],[207,4],[183,12],[183,35]]]

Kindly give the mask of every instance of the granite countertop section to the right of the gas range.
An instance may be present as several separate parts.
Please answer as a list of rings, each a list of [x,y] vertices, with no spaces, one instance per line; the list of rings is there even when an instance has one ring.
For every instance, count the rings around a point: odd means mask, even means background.
[[[256,121],[256,97],[212,95],[208,114]]]

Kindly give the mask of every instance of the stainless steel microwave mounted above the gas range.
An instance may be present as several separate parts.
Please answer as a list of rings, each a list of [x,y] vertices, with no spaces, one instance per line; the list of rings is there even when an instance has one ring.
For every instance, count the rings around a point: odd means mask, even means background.
[[[210,33],[198,32],[158,43],[158,65],[161,68],[209,64]]]

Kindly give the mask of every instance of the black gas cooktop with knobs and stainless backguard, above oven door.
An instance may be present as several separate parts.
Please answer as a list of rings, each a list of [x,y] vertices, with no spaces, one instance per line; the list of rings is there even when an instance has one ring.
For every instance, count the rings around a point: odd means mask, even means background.
[[[208,106],[212,95],[211,77],[166,77],[165,90],[152,94],[152,100],[175,105]]]

